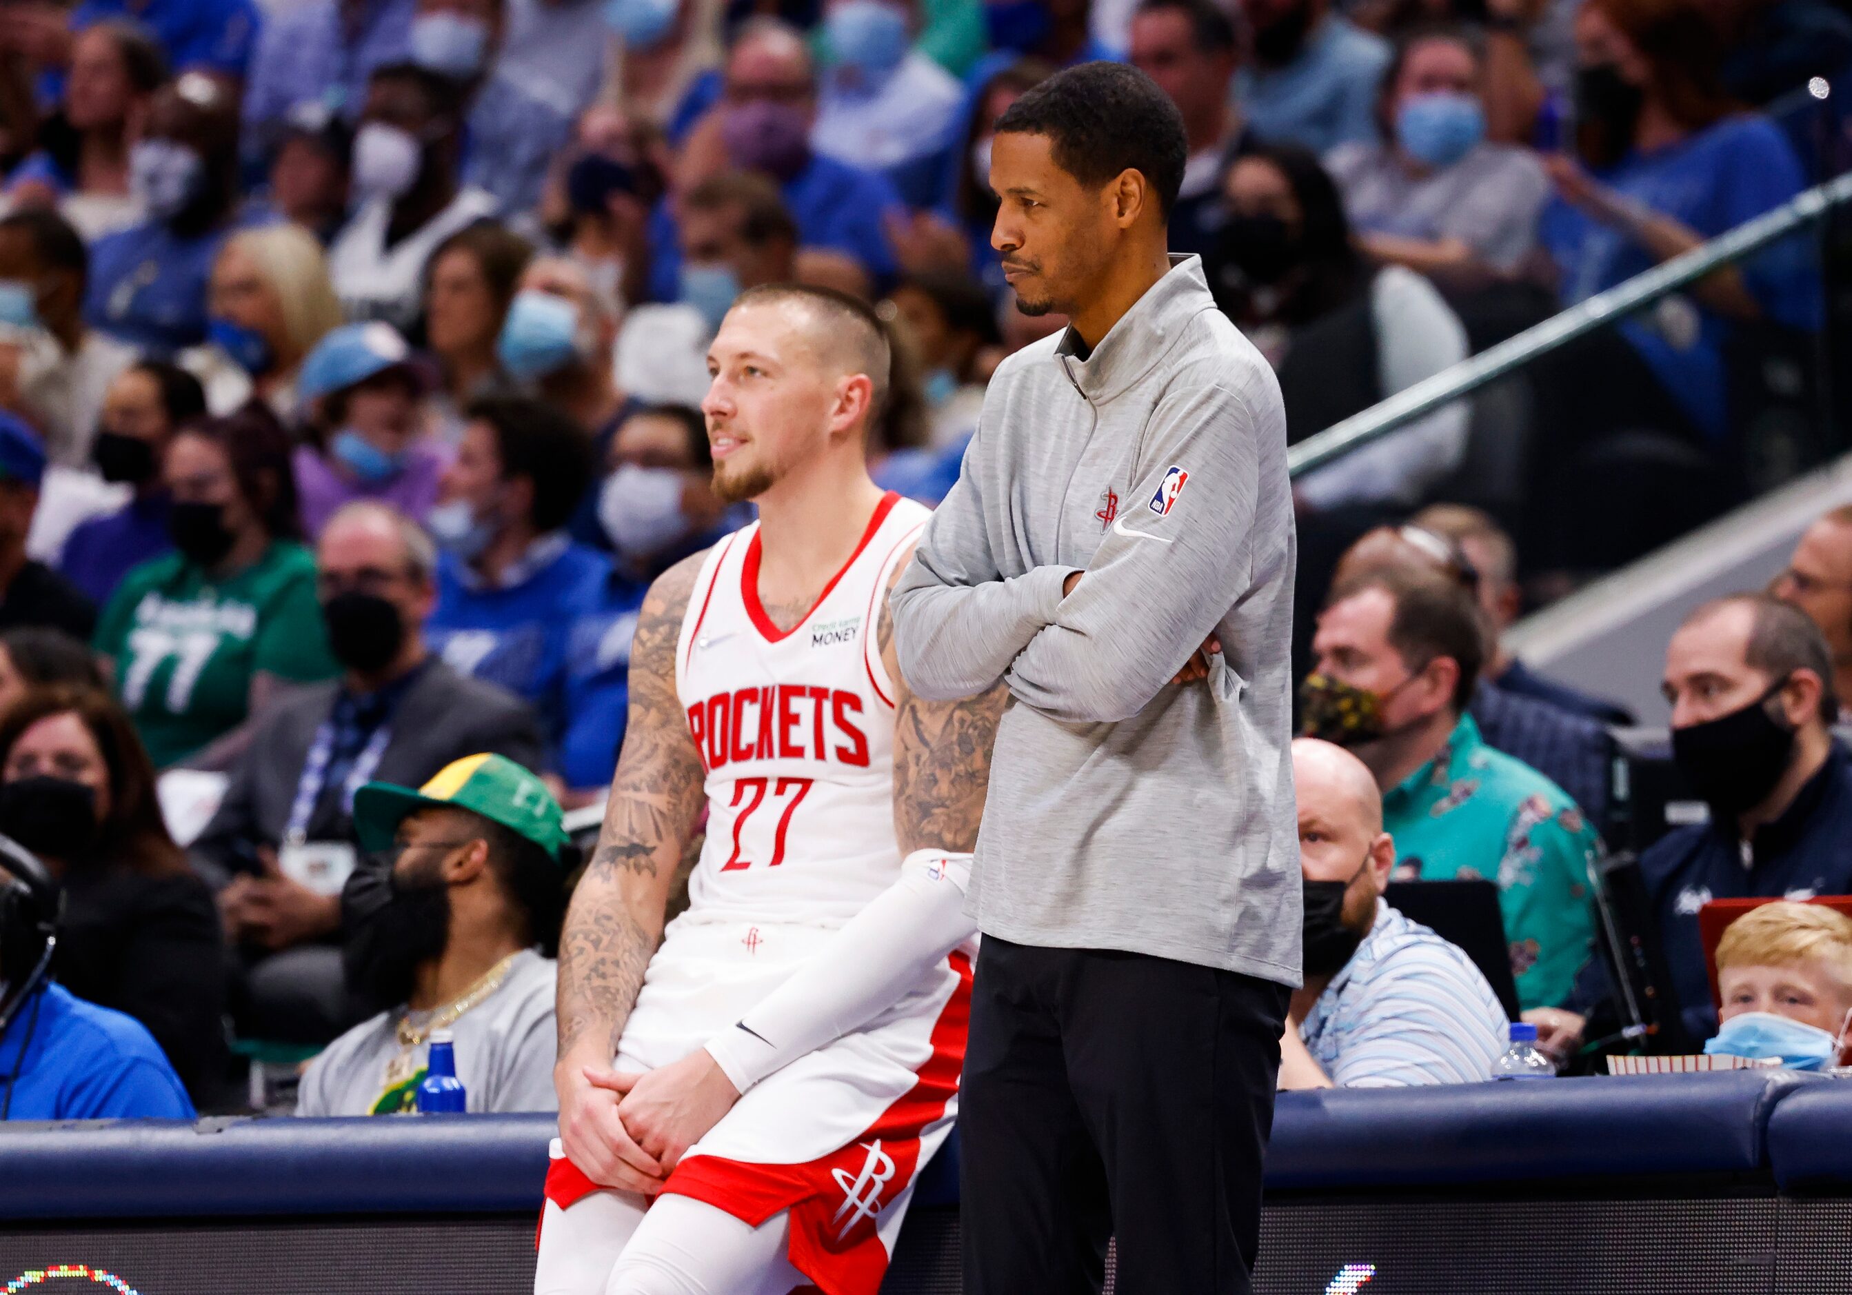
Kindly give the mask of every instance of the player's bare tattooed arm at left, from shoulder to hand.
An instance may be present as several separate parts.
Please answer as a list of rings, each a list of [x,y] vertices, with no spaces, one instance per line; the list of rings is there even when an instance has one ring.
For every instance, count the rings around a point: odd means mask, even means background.
[[[593,1182],[632,1191],[652,1189],[661,1165],[617,1117],[611,1058],[700,815],[702,765],[676,697],[676,639],[702,558],[670,567],[643,600],[630,648],[624,750],[598,849],[559,937],[559,1138]]]

